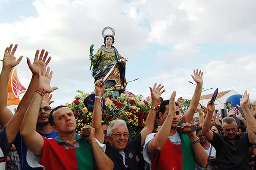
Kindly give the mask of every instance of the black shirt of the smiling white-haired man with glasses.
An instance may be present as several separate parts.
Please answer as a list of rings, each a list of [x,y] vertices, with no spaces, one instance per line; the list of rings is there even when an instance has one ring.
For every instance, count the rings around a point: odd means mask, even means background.
[[[136,161],[136,155],[139,155],[141,148],[141,134],[139,133],[138,136],[133,139],[132,141],[128,142],[126,148],[124,149],[125,153],[125,164],[123,164],[123,157],[122,155],[116,150],[114,147],[111,146],[110,143],[106,143],[106,151],[105,154],[110,157],[110,159],[114,163],[114,170],[137,170],[138,169],[138,162]]]

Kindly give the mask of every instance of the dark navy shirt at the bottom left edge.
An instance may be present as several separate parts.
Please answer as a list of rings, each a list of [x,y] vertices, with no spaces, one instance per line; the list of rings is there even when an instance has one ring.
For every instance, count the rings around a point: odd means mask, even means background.
[[[0,131],[0,169],[5,169],[6,166],[6,158],[9,154],[9,151],[12,147],[12,143],[8,142],[8,138],[6,135],[6,125]]]

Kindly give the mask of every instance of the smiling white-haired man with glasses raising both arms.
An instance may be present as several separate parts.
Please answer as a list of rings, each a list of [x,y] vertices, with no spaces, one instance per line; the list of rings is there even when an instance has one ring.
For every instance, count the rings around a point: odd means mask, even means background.
[[[106,143],[106,155],[114,163],[114,169],[138,169],[138,162],[136,161],[136,155],[139,155],[140,148],[143,146],[145,138],[148,134],[154,130],[154,122],[157,112],[157,104],[160,95],[165,91],[162,90],[164,86],[159,84],[150,87],[151,91],[151,109],[147,116],[145,126],[138,136],[129,141],[129,131],[126,123],[123,120],[115,120],[109,125],[107,130],[107,138],[109,143]],[[102,79],[95,84],[96,98],[93,111],[93,127],[96,131],[96,138],[100,142],[104,141],[104,134],[101,129],[101,98],[105,90],[105,84],[102,83]]]

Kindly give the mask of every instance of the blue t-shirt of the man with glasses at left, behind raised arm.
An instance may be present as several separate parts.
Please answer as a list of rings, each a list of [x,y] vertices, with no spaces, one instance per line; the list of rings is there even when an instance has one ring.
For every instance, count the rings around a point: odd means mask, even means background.
[[[44,136],[46,138],[55,138],[57,135],[56,132],[52,131],[49,134],[39,133],[41,136]],[[29,166],[27,162],[27,152],[28,147],[26,146],[25,142],[22,139],[22,136],[20,136],[19,132],[13,142],[13,144],[16,147],[16,150],[18,152],[19,160],[20,160],[20,167],[22,167],[22,170],[29,170],[29,169],[42,169],[41,167],[32,168]]]

